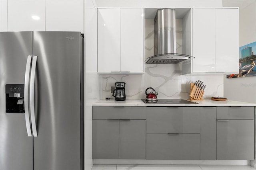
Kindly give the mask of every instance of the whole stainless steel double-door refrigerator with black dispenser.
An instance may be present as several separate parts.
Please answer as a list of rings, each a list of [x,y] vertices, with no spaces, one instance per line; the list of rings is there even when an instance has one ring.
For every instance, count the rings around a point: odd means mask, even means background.
[[[82,170],[80,32],[0,32],[0,170]]]

